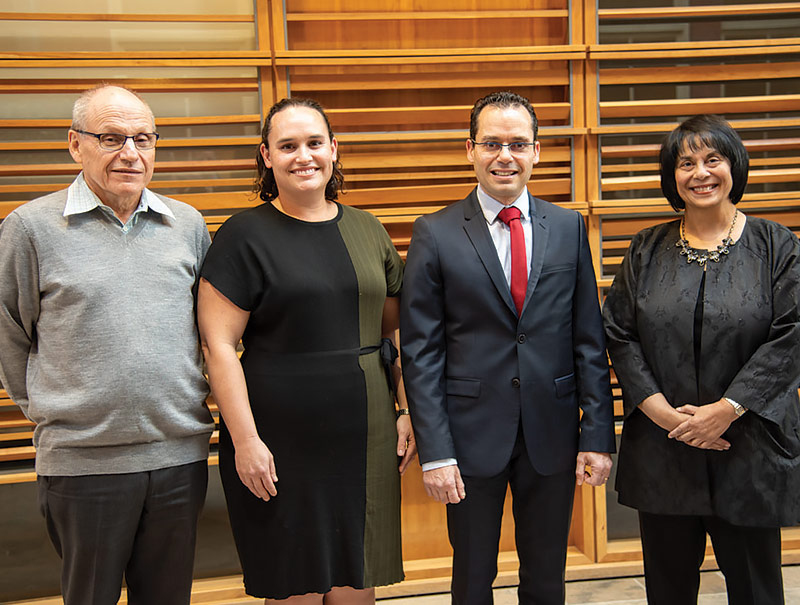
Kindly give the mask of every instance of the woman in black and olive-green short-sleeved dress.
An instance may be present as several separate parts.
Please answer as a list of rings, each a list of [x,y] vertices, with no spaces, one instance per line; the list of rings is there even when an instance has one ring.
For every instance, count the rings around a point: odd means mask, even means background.
[[[265,203],[217,232],[198,293],[245,588],[373,603],[403,578],[399,480],[416,453],[381,340],[397,329],[402,261],[377,219],[335,201],[337,142],[316,102],[272,107],[258,167]]]

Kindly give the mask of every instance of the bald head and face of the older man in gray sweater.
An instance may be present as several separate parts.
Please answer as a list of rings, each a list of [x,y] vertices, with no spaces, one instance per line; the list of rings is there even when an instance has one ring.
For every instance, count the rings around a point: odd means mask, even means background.
[[[152,114],[144,103],[121,88],[100,89],[91,98],[87,115],[83,130],[88,132],[125,135],[155,132]],[[69,152],[81,164],[89,189],[115,210],[138,204],[153,177],[155,148],[141,151],[131,139],[118,151],[106,151],[95,137],[70,130]]]

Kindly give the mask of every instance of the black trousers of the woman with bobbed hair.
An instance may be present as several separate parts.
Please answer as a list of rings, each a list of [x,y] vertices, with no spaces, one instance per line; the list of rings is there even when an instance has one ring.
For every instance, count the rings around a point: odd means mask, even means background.
[[[731,525],[719,517],[639,512],[649,605],[695,605],[711,536],[729,605],[783,605],[778,528]]]

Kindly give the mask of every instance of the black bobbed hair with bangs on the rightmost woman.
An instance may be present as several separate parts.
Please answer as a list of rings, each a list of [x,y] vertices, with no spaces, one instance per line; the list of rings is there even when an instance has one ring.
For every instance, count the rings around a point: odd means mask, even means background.
[[[676,212],[686,208],[686,202],[678,195],[678,185],[675,182],[678,156],[685,148],[697,151],[701,147],[714,149],[731,163],[731,203],[738,204],[744,195],[750,156],[747,155],[742,139],[722,117],[701,114],[681,123],[661,144],[661,191]]]

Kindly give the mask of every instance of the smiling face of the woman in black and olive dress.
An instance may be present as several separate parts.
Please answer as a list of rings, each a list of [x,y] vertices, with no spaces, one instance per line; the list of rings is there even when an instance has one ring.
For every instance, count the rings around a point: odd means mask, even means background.
[[[325,186],[336,161],[336,139],[315,109],[292,106],[272,116],[269,147],[261,145],[261,157],[271,168],[279,195],[325,195]]]

